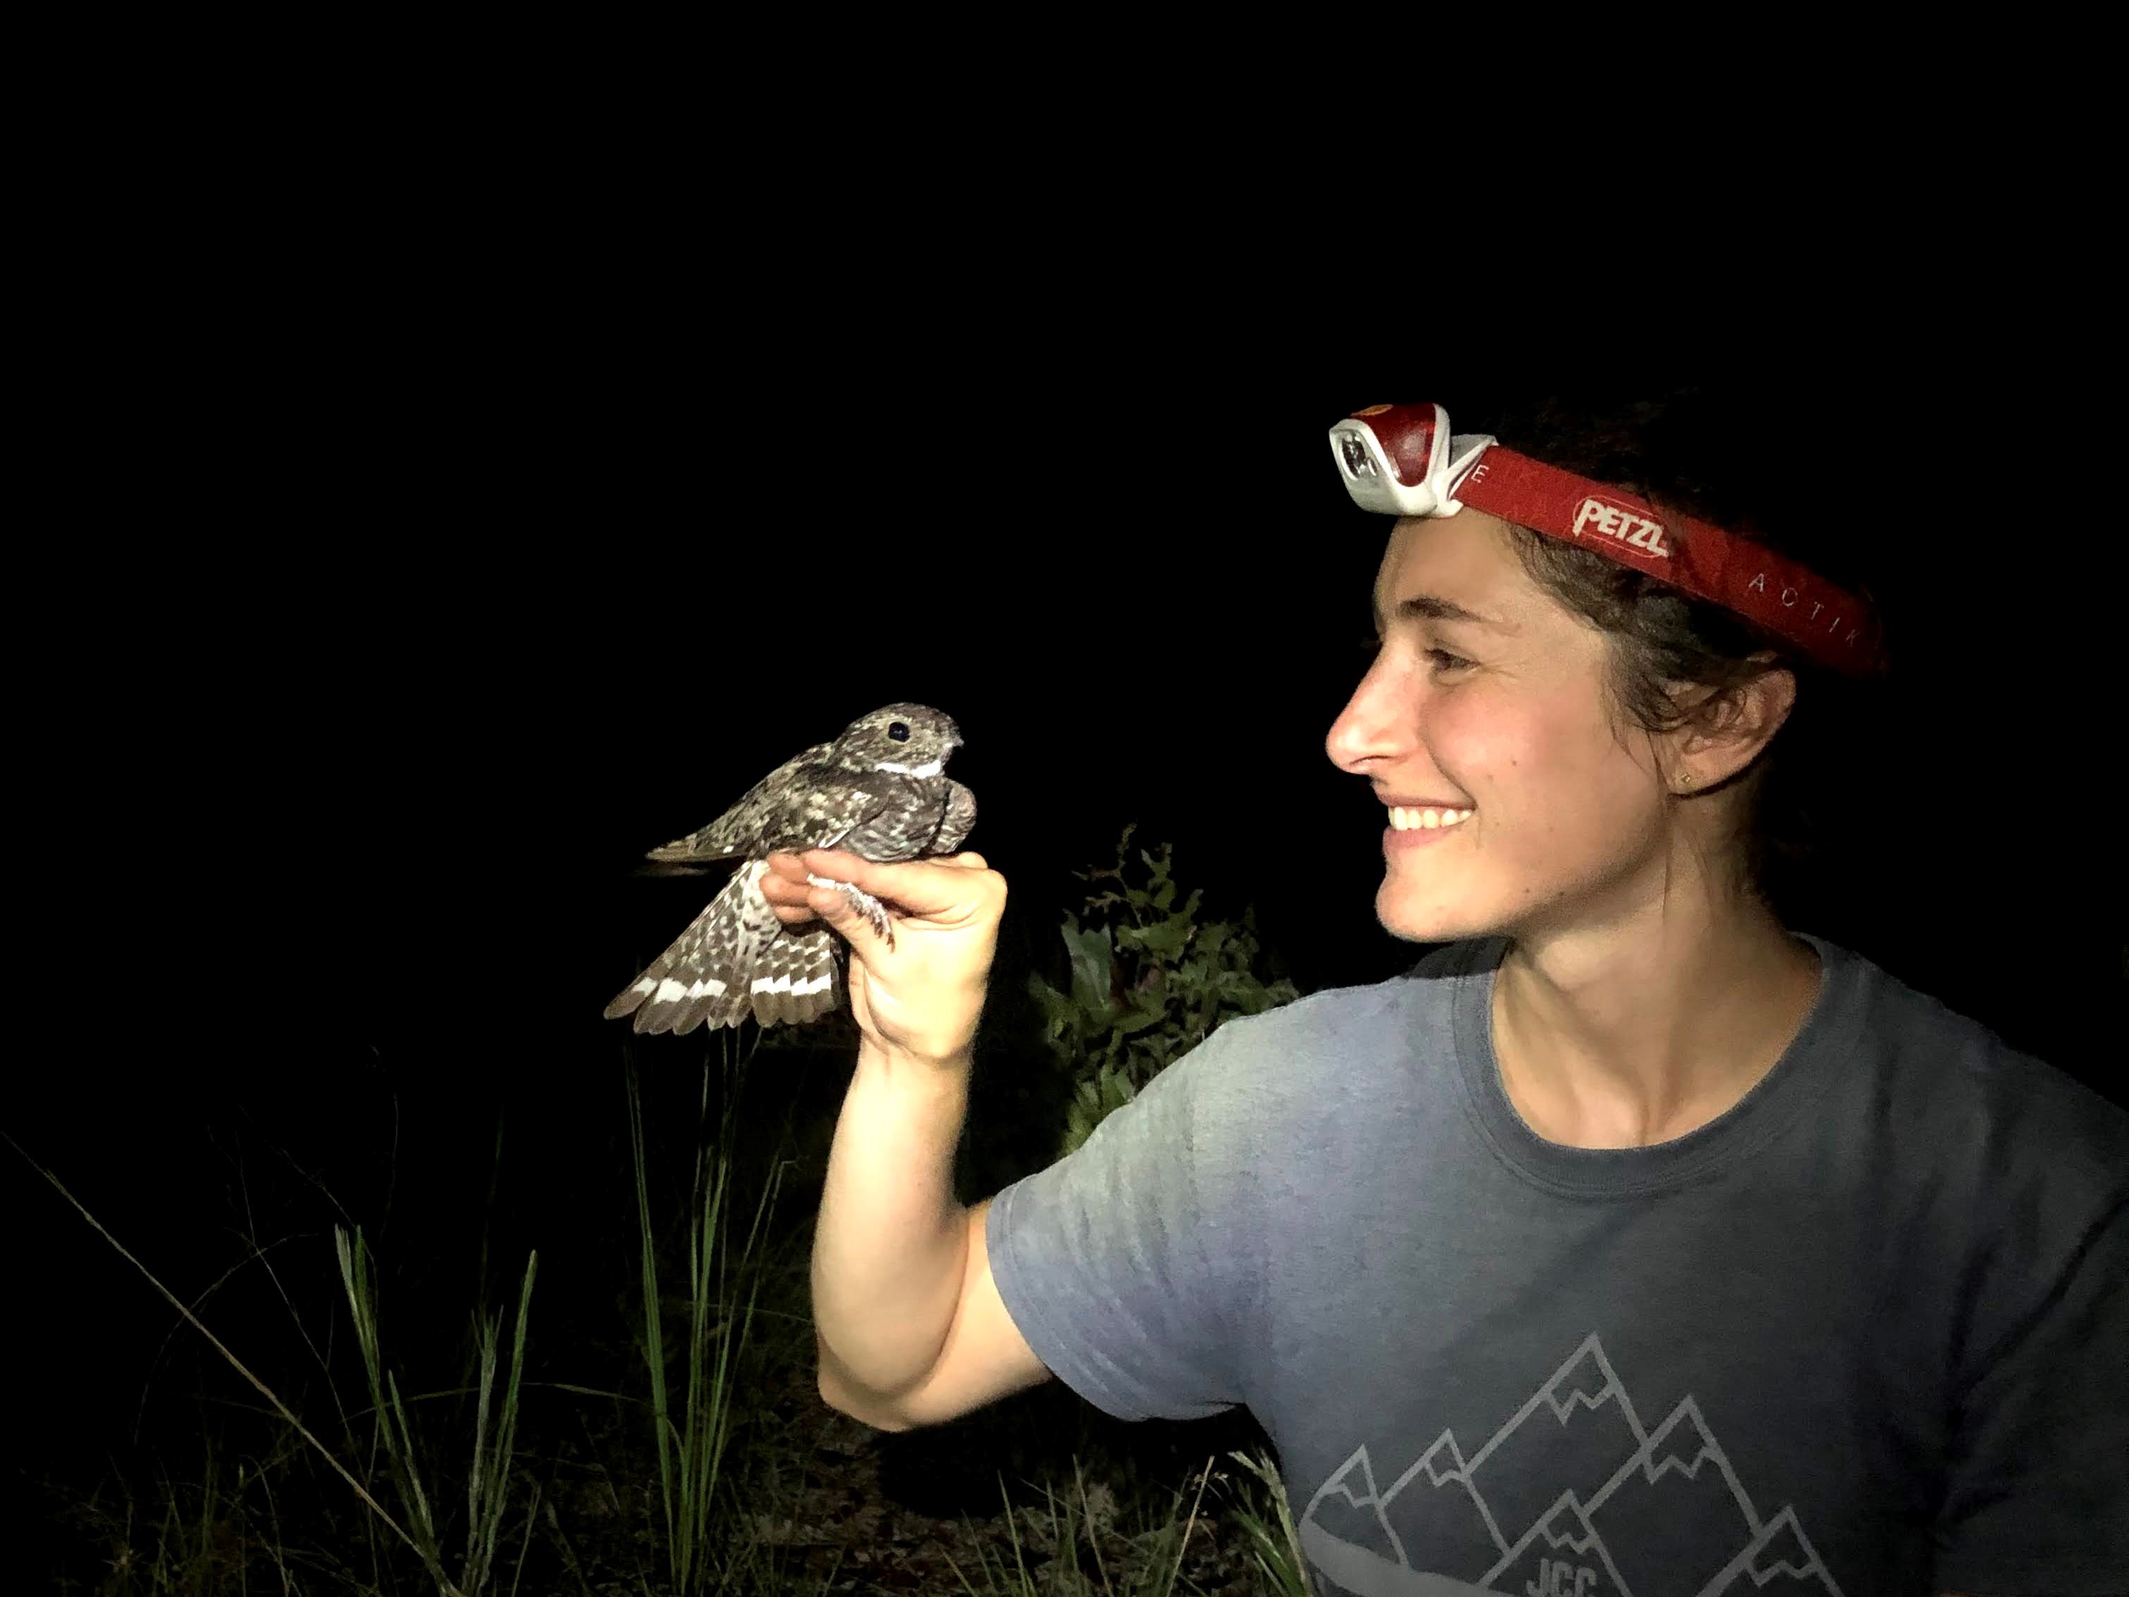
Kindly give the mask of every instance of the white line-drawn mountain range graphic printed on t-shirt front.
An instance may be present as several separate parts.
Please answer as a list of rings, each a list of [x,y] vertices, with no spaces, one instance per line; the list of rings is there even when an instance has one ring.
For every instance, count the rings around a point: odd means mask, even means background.
[[[1842,1597],[1795,1510],[1761,1518],[1690,1395],[1641,1425],[1597,1333],[1471,1452],[1441,1431],[1380,1486],[1363,1442],[1297,1529],[1354,1597]]]

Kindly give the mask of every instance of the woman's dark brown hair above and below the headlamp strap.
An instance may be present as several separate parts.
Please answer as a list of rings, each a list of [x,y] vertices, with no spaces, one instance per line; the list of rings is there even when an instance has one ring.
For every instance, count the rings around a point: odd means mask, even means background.
[[[1686,388],[1656,398],[1550,396],[1499,407],[1503,445],[1614,483],[1671,511],[1714,522],[1784,554],[1869,603],[1852,522],[1825,479],[1799,481],[1808,409],[1771,394]],[[1463,426],[1463,417],[1456,417]],[[1478,422],[1480,417],[1473,417]],[[1669,732],[1712,724],[1733,690],[1790,671],[1797,703],[1761,756],[1731,777],[1744,796],[1733,835],[1737,886],[1784,920],[1833,867],[1839,801],[1882,715],[1882,675],[1842,677],[1754,622],[1678,588],[1529,528],[1514,528],[1524,571],[1610,641],[1607,701],[1629,726]],[[1671,532],[1678,537],[1678,530]],[[1754,660],[1752,656],[1761,656]],[[1767,658],[1771,656],[1771,658]],[[1712,690],[1697,705],[1680,688]]]

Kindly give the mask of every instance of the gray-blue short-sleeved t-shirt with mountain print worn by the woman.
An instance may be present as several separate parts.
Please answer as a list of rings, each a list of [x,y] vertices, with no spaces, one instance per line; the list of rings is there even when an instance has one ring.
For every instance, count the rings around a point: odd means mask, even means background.
[[[2129,1591],[2129,1116],[1869,960],[1654,1148],[1501,1088],[1505,943],[1222,1026],[990,1209],[1037,1356],[1248,1403],[1318,1591]]]

